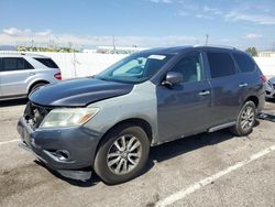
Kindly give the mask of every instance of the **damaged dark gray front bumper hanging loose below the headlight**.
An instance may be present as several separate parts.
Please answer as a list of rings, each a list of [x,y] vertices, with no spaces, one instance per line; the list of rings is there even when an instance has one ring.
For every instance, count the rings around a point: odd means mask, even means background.
[[[100,133],[85,127],[33,129],[24,117],[18,122],[20,146],[31,151],[48,168],[65,177],[86,181],[91,176]]]

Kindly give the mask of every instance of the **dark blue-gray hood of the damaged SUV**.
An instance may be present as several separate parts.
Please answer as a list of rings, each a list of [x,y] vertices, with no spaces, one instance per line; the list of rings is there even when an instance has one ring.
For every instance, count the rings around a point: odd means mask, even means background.
[[[132,84],[81,78],[65,80],[35,90],[30,100],[41,106],[85,107],[89,103],[129,94]]]

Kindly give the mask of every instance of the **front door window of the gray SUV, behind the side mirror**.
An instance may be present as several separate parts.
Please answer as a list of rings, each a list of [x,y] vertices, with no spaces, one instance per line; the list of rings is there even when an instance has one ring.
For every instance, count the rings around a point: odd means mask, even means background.
[[[172,69],[183,74],[184,81],[200,81],[202,79],[202,64],[200,61],[200,54],[189,54],[180,59]]]

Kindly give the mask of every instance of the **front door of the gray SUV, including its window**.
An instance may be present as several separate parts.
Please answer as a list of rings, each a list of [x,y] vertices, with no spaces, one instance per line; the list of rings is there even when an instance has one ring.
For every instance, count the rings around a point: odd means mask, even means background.
[[[201,53],[185,54],[170,70],[182,73],[184,80],[173,88],[156,88],[161,142],[205,131],[211,116],[210,85]]]

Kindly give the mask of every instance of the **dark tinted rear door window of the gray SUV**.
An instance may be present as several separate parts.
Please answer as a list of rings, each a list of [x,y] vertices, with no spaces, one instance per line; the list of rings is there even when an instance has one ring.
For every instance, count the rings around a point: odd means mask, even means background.
[[[207,53],[212,78],[235,74],[234,62],[229,53]]]

